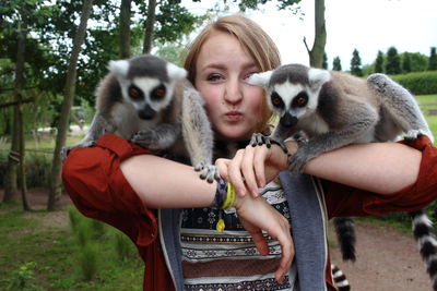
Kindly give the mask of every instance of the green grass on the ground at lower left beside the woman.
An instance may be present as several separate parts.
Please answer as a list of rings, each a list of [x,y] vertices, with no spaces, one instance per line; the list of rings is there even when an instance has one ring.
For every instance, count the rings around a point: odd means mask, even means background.
[[[142,290],[143,263],[133,244],[129,259],[118,258],[114,246],[118,231],[105,226],[105,233],[82,252],[70,226],[43,226],[44,215],[29,216],[20,203],[0,204],[0,290]],[[85,268],[96,270],[85,278],[80,258],[90,252],[96,266],[85,263]]]

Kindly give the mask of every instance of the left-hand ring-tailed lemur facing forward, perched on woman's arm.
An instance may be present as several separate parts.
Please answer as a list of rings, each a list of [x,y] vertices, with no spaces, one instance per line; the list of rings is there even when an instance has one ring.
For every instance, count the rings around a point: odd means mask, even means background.
[[[187,71],[150,54],[109,62],[109,73],[96,90],[96,113],[86,136],[62,149],[93,146],[105,133],[118,132],[151,150],[189,158],[210,183],[213,132],[202,96],[186,78]]]

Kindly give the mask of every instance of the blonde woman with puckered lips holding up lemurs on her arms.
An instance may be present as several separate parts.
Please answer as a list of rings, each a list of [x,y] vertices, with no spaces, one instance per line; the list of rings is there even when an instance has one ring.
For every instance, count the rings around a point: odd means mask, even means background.
[[[263,92],[248,85],[246,78],[252,73],[271,70],[279,64],[277,49],[270,37],[256,23],[244,16],[231,15],[218,19],[206,26],[193,41],[185,66],[189,71],[189,78],[204,96],[206,111],[216,134],[216,157],[233,157],[237,148],[246,146],[253,132],[268,130],[267,121],[270,112],[265,106]],[[291,143],[288,146],[292,149],[295,144]],[[427,154],[421,155],[416,149],[399,146],[399,151],[393,155],[409,162],[405,177],[410,179],[393,182],[393,187],[386,189],[387,192],[383,194],[414,183],[420,169],[423,173],[425,163],[430,170],[434,167],[429,153],[435,153],[435,148],[424,146],[422,149],[426,148]],[[369,183],[369,181],[374,182],[374,167],[361,169],[362,177],[356,179],[356,175],[352,174],[352,170],[356,168],[354,161],[365,160],[367,155],[379,155],[381,150],[383,153],[386,149],[391,150],[391,146],[377,144],[369,147],[367,151],[355,147],[339,149],[335,159],[344,160],[344,162],[339,163],[335,171],[331,171],[331,165],[323,161],[326,155],[312,161],[312,171],[309,168],[310,165],[306,171],[328,180],[375,191],[373,183]],[[244,195],[250,191],[258,196],[258,185],[264,186],[265,181],[269,181],[279,170],[285,169],[284,160],[286,159],[281,156],[281,153],[275,153],[276,149],[275,147],[272,150],[263,147],[246,148],[238,151],[233,160],[217,161],[221,174],[232,179],[241,194],[237,195],[234,204],[236,213],[233,209],[222,211],[208,207],[214,201],[216,189],[220,189],[217,183],[208,184],[201,181],[190,167],[152,155],[143,155],[146,150],[111,135],[102,137],[97,142],[97,147],[72,150],[64,162],[62,177],[72,201],[83,214],[119,228],[137,244],[146,265],[144,290],[204,290],[208,288],[211,290],[226,290],[226,288],[323,290],[327,286],[326,280],[328,287],[334,290],[331,276],[328,275],[330,270],[323,229],[326,208],[320,203],[323,201],[323,195],[320,194],[322,189],[329,190],[327,197],[331,201],[327,198],[327,205],[331,216],[335,215],[335,210],[342,215],[345,213],[343,208],[339,209],[334,206],[336,202],[342,202],[342,196],[349,197],[347,193],[351,192],[354,197],[362,195],[363,198],[356,204],[349,203],[355,208],[352,208],[346,214],[347,216],[355,213],[362,214],[363,211],[358,209],[362,209],[363,203],[367,201],[379,205],[379,208],[375,210],[378,213],[398,210],[402,206],[405,210],[421,208],[435,199],[436,194],[432,196],[423,189],[415,191],[409,187],[412,190],[411,199],[395,193],[386,195],[388,198],[385,201],[380,197],[386,196],[339,183],[326,182],[326,185],[320,187],[307,175],[297,175],[297,180],[291,180],[291,177],[286,174],[283,175],[285,191],[276,181],[273,181],[263,190],[265,198]],[[250,157],[253,157],[251,155],[257,158],[251,159]],[[268,166],[275,165],[265,168],[268,177],[264,177],[262,167],[259,171],[250,171],[253,169],[251,161],[255,161],[256,168],[260,167],[259,163],[263,163],[262,155],[267,157]],[[393,162],[392,159],[386,160],[386,156],[382,157],[375,165],[381,167]],[[320,160],[319,163],[318,160]],[[399,166],[399,163],[391,166]],[[147,171],[147,169],[153,169],[153,171]],[[248,189],[244,185],[240,173],[238,174],[240,170],[245,174]],[[375,180],[389,181],[390,174],[397,173],[382,173]],[[367,178],[369,181],[361,183],[362,178]],[[423,183],[422,178],[423,175],[420,174],[416,184]],[[315,184],[317,187],[314,186]],[[376,190],[380,192],[380,189]],[[288,211],[288,207],[296,208],[297,205],[288,206],[290,197],[294,196],[291,195],[292,192],[302,192],[305,197],[312,198],[312,203],[316,202],[314,205],[318,213],[311,215],[311,219],[297,217],[299,209]],[[339,194],[334,196],[335,193]],[[423,196],[418,196],[421,193]],[[399,201],[401,203],[398,203]],[[294,229],[295,217],[297,222],[304,219],[309,222],[308,227],[314,226],[311,229],[308,228],[312,237],[304,233],[297,239],[299,247],[300,241],[307,240],[307,245],[317,248],[300,247],[307,255],[297,253],[296,264],[293,264],[292,268],[290,265],[294,251],[290,237],[288,216],[293,216],[294,235],[295,231],[298,231]],[[220,217],[225,222],[223,232],[215,230]],[[248,233],[244,231],[241,225],[249,231]],[[299,228],[298,223],[296,228]],[[260,230],[265,230],[273,240],[270,238],[265,240]],[[250,240],[250,235],[253,240]],[[296,240],[295,237],[294,240]],[[259,252],[256,252],[256,246]],[[316,253],[308,255],[308,251]],[[311,262],[317,264],[311,265]]]

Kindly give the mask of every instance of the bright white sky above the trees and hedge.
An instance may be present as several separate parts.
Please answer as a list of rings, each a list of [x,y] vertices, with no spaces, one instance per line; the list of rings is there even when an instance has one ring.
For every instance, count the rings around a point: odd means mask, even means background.
[[[192,13],[199,14],[214,2],[182,1]],[[398,52],[425,56],[429,56],[430,47],[437,47],[437,0],[326,0],[324,5],[329,69],[333,58],[340,57],[343,70],[349,70],[354,49],[365,65],[376,59],[378,50],[387,52],[391,46]],[[304,15],[293,15],[268,3],[260,5],[259,11],[247,12],[273,38],[283,63],[309,64],[303,39],[312,47],[314,0],[302,0],[300,10]],[[231,7],[229,12],[237,12],[237,8]]]

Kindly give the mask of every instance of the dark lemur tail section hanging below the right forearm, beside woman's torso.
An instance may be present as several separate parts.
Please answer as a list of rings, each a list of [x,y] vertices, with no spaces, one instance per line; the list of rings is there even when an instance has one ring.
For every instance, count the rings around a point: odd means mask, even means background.
[[[343,260],[355,262],[354,220],[351,217],[336,217],[334,218],[334,227]]]

